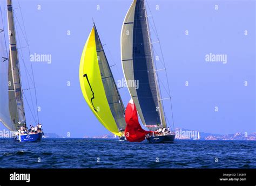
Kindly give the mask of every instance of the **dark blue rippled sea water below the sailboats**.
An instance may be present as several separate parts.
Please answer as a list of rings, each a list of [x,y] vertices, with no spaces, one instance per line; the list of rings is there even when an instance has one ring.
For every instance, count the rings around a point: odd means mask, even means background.
[[[0,139],[1,168],[256,168],[256,141],[176,140],[149,144],[117,139]]]

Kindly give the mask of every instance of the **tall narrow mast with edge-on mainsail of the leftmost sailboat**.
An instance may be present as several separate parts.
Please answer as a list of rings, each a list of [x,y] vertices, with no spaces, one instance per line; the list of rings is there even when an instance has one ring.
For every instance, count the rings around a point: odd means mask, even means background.
[[[9,31],[9,48],[10,48],[10,64],[12,80],[14,83],[15,98],[18,112],[18,123],[25,124],[24,103],[22,97],[21,74],[19,71],[18,52],[15,35],[14,16],[12,11],[12,2],[7,0],[7,18],[8,18],[8,31]]]

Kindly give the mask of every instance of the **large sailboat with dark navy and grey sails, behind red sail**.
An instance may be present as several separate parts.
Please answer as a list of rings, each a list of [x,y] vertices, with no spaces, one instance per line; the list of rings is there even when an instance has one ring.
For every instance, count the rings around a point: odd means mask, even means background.
[[[126,82],[139,82],[139,88],[128,88],[143,125],[152,131],[166,128],[144,0],[134,0],[126,13],[121,31],[121,59]],[[147,140],[171,143],[174,138],[175,133],[170,132],[151,135]]]

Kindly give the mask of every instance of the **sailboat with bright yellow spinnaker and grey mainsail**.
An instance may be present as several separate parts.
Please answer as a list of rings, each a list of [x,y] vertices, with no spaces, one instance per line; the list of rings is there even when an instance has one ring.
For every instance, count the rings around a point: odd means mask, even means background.
[[[107,130],[124,140],[125,108],[95,23],[81,56],[79,80],[85,101],[96,118]]]

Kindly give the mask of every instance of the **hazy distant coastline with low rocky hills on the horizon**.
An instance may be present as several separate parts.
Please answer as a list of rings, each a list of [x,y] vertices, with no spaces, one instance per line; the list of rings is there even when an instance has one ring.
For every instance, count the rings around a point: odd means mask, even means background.
[[[256,140],[256,133],[247,134],[242,132],[237,132],[234,134],[212,134],[212,133],[206,133],[201,131],[194,131],[194,130],[187,130],[184,128],[176,128],[175,129],[176,139],[195,139],[196,135],[192,135],[194,133],[200,132],[200,140]],[[181,135],[184,134],[184,135]],[[97,135],[93,137],[89,137],[87,135],[84,136],[84,138],[95,138],[95,139],[114,139],[114,134],[105,134],[105,135]]]

